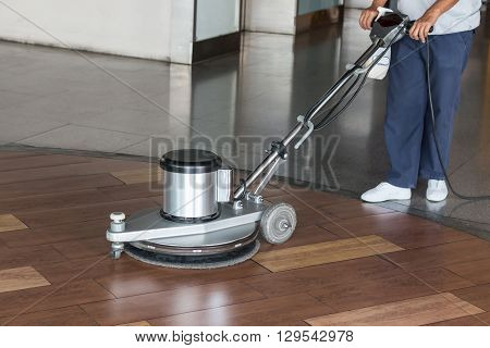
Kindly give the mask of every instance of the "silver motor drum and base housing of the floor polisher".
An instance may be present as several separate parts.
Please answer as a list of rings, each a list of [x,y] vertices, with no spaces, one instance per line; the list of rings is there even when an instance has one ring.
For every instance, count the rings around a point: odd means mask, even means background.
[[[156,253],[209,256],[229,252],[254,243],[264,211],[271,207],[247,192],[233,196],[233,169],[217,154],[184,149],[166,153],[161,161],[162,208],[147,209],[125,219],[113,213],[107,231],[112,256],[125,244]],[[295,216],[283,226],[290,236]],[[287,238],[289,238],[287,236]]]

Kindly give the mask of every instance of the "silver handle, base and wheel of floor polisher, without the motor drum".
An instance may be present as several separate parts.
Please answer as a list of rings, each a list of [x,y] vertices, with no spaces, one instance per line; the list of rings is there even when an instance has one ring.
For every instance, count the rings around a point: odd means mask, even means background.
[[[297,125],[281,140],[271,144],[264,161],[242,181],[235,189],[233,200],[221,203],[219,217],[194,224],[185,224],[163,219],[160,209],[140,211],[130,219],[123,213],[111,214],[107,239],[111,243],[111,256],[118,259],[124,244],[150,250],[156,253],[179,256],[205,256],[243,248],[258,237],[259,225],[262,237],[272,244],[287,240],[296,226],[294,209],[286,203],[271,204],[261,196],[279,166],[287,160],[287,148],[296,140],[298,149],[316,129],[333,122],[363,88],[369,71],[379,62],[383,52],[406,35],[413,22],[396,11],[381,9],[382,15],[373,23],[370,33],[371,46],[360,55],[342,77],[313,105],[305,116],[297,117]],[[376,54],[378,55],[376,57]],[[314,123],[327,104],[354,79],[340,101],[321,121]],[[354,92],[353,92],[354,91]],[[351,96],[350,96],[351,95]],[[347,103],[345,100],[350,96]],[[340,111],[334,111],[341,109]],[[255,189],[250,187],[258,182]]]

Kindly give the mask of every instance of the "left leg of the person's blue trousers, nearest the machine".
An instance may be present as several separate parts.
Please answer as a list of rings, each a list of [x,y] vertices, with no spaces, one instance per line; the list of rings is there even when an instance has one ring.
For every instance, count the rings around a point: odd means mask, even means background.
[[[392,49],[389,71],[384,140],[391,170],[388,183],[396,187],[417,185],[427,84],[421,44],[404,37]]]

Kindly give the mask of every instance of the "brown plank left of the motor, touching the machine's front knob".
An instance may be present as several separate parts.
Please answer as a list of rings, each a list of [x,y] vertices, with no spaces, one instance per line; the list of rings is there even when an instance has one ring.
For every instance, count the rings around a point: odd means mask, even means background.
[[[57,209],[52,211],[19,213],[19,217],[29,227],[69,224],[108,217],[111,212],[123,211],[127,215],[145,209],[158,207],[150,199],[132,199],[85,207]],[[109,220],[108,220],[109,221]]]

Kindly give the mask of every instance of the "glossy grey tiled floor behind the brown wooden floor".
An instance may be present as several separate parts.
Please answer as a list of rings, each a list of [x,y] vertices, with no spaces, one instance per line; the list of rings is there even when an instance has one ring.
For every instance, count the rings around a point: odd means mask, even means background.
[[[253,169],[367,46],[347,11],[342,27],[299,35],[246,34],[241,54],[194,67],[0,44],[0,144],[157,157],[211,148]],[[451,178],[467,195],[490,192],[490,64],[487,26],[464,76]],[[330,128],[292,153],[280,175],[359,194],[388,169],[382,121],[385,82],[369,82]],[[450,216],[490,232],[488,201],[428,204],[420,185],[390,207]]]

